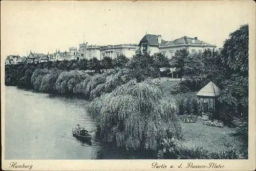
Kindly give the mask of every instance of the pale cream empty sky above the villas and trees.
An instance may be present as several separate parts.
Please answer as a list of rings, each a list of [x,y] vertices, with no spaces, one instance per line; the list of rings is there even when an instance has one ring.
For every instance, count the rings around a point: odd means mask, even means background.
[[[1,1],[1,58],[61,52],[88,44],[139,43],[147,34],[182,36],[218,47],[251,22],[253,2]],[[250,27],[250,25],[249,25]]]

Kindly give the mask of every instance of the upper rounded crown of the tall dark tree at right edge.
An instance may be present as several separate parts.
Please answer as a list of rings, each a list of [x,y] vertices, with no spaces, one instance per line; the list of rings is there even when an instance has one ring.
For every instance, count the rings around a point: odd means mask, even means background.
[[[248,76],[248,44],[249,27],[241,26],[237,31],[229,34],[224,41],[221,51],[222,63],[228,69],[228,74],[238,73]]]

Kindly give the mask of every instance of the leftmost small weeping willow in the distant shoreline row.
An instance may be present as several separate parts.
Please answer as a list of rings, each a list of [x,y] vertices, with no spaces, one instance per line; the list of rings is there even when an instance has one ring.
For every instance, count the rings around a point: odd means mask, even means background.
[[[49,74],[49,70],[47,68],[44,69],[36,69],[32,76],[31,76],[31,84],[34,87],[35,91],[39,91],[40,90],[40,86],[41,86],[41,82],[42,82],[42,78]]]

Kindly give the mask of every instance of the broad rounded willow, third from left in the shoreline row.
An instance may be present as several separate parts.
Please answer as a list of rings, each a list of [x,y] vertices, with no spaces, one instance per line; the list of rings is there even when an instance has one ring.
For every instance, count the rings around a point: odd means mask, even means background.
[[[73,94],[73,89],[76,87],[76,85],[86,77],[87,74],[81,71],[64,71],[60,74],[56,81],[56,90],[60,94]]]

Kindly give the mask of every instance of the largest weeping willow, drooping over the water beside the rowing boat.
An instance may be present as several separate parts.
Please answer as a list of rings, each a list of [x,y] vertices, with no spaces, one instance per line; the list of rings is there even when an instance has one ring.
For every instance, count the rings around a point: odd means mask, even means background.
[[[157,150],[162,138],[181,138],[174,99],[162,100],[156,80],[132,80],[93,100],[88,112],[95,117],[105,142],[126,149]]]

